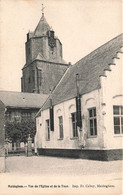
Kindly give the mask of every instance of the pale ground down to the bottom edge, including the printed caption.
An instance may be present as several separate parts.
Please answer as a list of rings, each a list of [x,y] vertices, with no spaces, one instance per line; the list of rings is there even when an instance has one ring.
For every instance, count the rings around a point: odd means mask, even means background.
[[[122,162],[46,156],[6,158],[3,194],[122,194]],[[6,181],[6,182],[5,182]],[[22,189],[23,188],[23,189]],[[50,188],[50,189],[49,189]]]

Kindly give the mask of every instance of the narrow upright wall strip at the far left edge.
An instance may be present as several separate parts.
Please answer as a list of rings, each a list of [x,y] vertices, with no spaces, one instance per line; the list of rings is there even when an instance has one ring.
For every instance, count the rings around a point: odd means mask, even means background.
[[[5,141],[5,120],[4,120],[4,111],[5,106],[0,101],[0,172],[5,171],[5,150],[4,150],[4,141]]]

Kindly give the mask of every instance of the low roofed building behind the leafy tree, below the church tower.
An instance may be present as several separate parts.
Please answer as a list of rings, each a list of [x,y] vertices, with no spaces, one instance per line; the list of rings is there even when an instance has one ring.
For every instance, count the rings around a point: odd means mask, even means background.
[[[36,113],[40,110],[48,95],[22,93],[13,91],[0,91],[0,100],[5,106],[4,112],[4,127],[6,123],[15,124],[22,121],[33,121],[35,123]],[[3,113],[0,113],[1,116]],[[9,140],[7,138],[7,140]],[[10,142],[5,140],[7,151],[24,148],[24,143],[18,140]],[[8,152],[7,152],[8,153]]]

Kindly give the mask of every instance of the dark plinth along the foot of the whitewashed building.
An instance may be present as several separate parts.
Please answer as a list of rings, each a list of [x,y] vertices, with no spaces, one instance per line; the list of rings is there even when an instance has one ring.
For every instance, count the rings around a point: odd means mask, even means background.
[[[89,160],[99,161],[112,161],[122,160],[123,150],[75,150],[75,149],[37,149],[39,155],[44,156],[55,156],[55,157],[66,157],[66,158],[81,158]]]

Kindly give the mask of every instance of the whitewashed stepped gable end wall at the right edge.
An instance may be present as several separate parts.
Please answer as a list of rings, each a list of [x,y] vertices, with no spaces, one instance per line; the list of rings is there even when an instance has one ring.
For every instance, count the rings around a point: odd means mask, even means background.
[[[123,105],[123,54],[118,53],[111,71],[105,71],[107,77],[101,78],[103,90],[104,143],[106,148],[123,148],[123,134],[114,134],[113,105]]]

